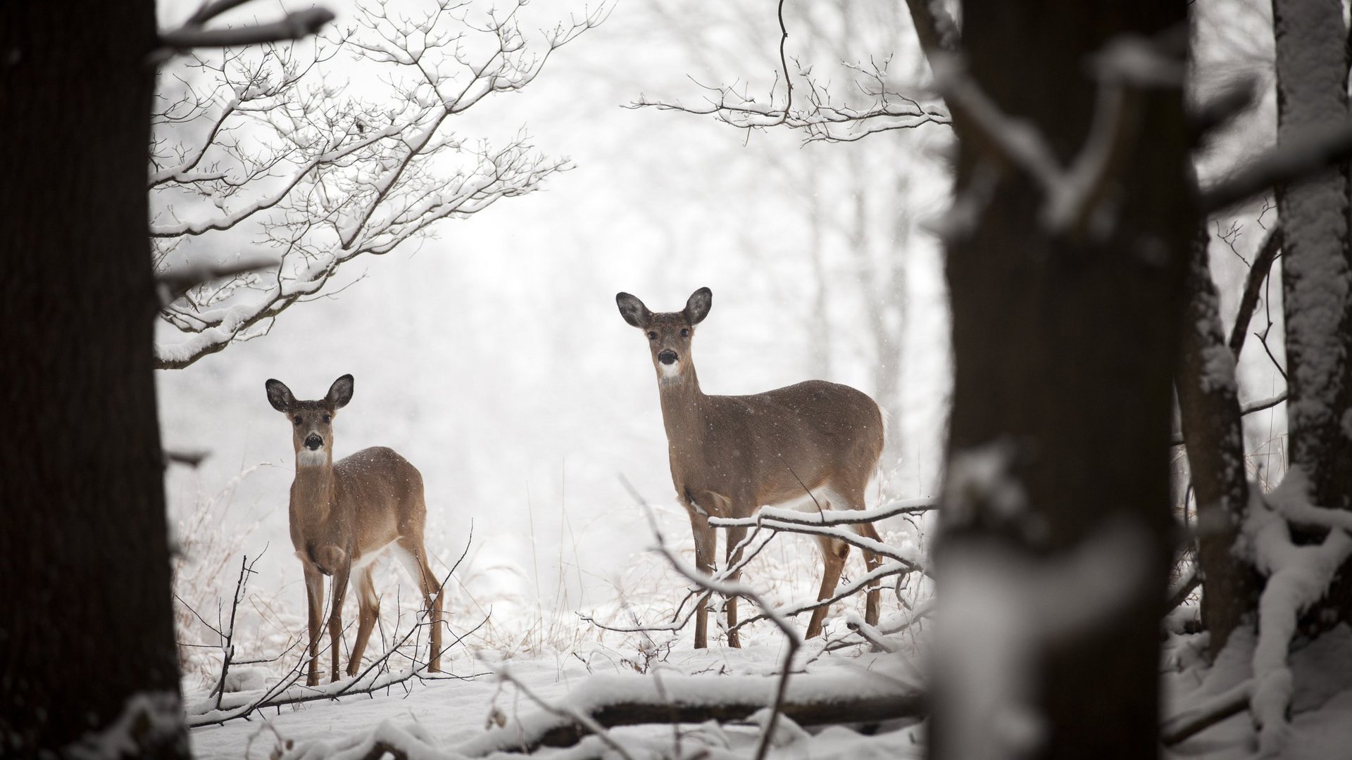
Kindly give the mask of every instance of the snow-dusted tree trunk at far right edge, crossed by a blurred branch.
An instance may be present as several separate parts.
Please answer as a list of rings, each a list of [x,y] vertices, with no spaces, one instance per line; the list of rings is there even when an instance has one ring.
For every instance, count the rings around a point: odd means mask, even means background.
[[[1347,31],[1338,0],[1274,0],[1278,143],[1347,119]],[[1282,296],[1286,319],[1287,419],[1291,465],[1310,479],[1307,496],[1345,507],[1332,467],[1347,435],[1347,368],[1352,333],[1347,169],[1328,169],[1279,187],[1284,233]],[[1345,456],[1343,458],[1347,458]],[[1345,469],[1345,468],[1340,468]],[[1347,485],[1344,481],[1343,485]]]

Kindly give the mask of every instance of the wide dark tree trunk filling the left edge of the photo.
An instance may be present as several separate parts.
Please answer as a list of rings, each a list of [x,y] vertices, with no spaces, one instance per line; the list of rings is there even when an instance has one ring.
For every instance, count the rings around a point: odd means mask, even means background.
[[[154,45],[147,0],[0,5],[5,755],[188,755],[150,369]]]

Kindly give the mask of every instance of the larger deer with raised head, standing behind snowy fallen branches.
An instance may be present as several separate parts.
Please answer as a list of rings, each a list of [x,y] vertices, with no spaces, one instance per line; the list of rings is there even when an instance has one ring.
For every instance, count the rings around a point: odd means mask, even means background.
[[[808,380],[749,396],[710,396],[699,388],[690,345],[708,316],[714,295],[695,291],[681,311],[654,314],[629,293],[615,296],[619,314],[648,337],[657,369],[657,394],[667,427],[676,495],[690,513],[695,564],[711,572],[710,517],[746,518],[764,504],[807,508],[864,508],[864,492],[883,453],[883,415],[873,399],[823,380]],[[854,530],[877,540],[871,523]],[[727,567],[741,559],[745,527],[729,527]],[[849,544],[821,537],[825,568],[818,599],[836,592]],[[879,557],[864,553],[872,571]],[[740,572],[734,572],[735,577]],[[868,590],[865,619],[877,622],[879,591]],[[740,646],[737,599],[727,599],[727,644]],[[807,637],[822,632],[826,607],[813,610]],[[708,610],[695,613],[695,648],[707,645]]]

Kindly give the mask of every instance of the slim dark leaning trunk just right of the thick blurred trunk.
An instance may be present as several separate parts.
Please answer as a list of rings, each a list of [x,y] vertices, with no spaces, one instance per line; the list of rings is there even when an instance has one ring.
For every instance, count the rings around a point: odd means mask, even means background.
[[[1211,632],[1214,656],[1242,617],[1257,607],[1259,579],[1234,552],[1249,484],[1244,473],[1234,353],[1226,345],[1218,316],[1220,299],[1207,257],[1210,241],[1211,235],[1199,227],[1187,275],[1188,303],[1176,387],[1188,469],[1197,490],[1198,525],[1205,526],[1198,552],[1202,622]]]

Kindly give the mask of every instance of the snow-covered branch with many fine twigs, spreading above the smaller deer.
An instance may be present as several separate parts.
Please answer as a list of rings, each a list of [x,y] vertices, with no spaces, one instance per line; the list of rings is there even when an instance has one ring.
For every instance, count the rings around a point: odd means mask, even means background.
[[[235,4],[220,0],[199,16]],[[273,266],[214,279],[166,304],[160,316],[180,338],[157,346],[155,366],[188,366],[264,335],[292,306],[331,292],[354,258],[389,253],[566,170],[568,158],[542,156],[525,131],[492,145],[450,130],[450,116],[534,81],[553,50],[610,8],[527,34],[522,5],[477,18],[439,0],[408,18],[361,4],[342,35],[226,49],[162,72],[147,180],[157,270],[224,269],[242,257],[233,252],[258,249]],[[370,84],[353,89],[362,95],[343,95],[329,73],[339,53],[357,58],[352,76]]]

